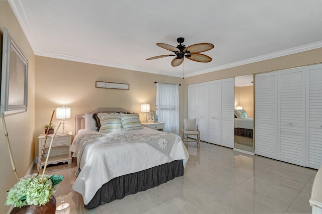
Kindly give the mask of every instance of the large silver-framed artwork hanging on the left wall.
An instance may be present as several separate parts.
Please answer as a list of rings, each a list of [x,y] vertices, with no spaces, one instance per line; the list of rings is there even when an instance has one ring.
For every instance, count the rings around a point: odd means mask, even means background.
[[[27,111],[28,61],[4,28],[0,112],[11,115]]]

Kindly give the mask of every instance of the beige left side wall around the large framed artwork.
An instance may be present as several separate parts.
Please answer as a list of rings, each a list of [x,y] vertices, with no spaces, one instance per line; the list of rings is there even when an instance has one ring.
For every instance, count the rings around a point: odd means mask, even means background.
[[[25,37],[13,11],[7,1],[0,1],[0,34],[3,39],[3,29],[9,34],[28,59],[28,111],[6,116],[7,131],[11,149],[19,177],[24,176],[34,161],[35,132],[35,55]],[[2,42],[1,42],[2,43]],[[5,206],[6,191],[17,182],[12,170],[9,151],[4,135],[3,124],[0,125],[0,213],[7,213]]]

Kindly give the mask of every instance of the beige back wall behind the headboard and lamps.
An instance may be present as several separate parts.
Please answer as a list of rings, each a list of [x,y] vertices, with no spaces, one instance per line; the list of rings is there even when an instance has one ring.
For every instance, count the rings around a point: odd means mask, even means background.
[[[130,89],[96,88],[95,81],[128,83]],[[143,122],[142,103],[149,103],[150,109],[155,111],[154,81],[182,84],[179,92],[180,110],[183,110],[186,87],[182,78],[37,56],[35,137],[44,132],[41,126],[49,123],[52,111],[62,105],[71,108],[66,130],[73,134],[74,115],[100,107],[120,107],[137,112]],[[183,116],[183,111],[180,111],[180,122]],[[53,122],[58,125],[60,121],[54,117]],[[38,143],[35,150],[37,154]]]

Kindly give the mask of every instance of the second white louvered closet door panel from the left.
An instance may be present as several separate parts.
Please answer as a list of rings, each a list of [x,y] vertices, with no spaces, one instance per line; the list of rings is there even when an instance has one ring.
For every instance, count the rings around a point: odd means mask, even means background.
[[[200,140],[208,142],[208,83],[197,85]]]

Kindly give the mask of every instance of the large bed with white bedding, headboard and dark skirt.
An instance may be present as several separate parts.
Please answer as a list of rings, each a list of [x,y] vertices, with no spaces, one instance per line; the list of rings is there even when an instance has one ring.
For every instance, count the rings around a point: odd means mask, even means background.
[[[100,131],[94,130],[97,127],[91,124],[91,128],[87,122],[93,114],[102,118],[121,115],[122,129],[101,133],[105,126],[101,123]],[[139,122],[137,129],[128,129],[123,117],[132,116],[134,114],[120,108],[96,109],[75,116],[77,134],[70,151],[76,157],[78,170],[72,189],[82,194],[86,208],[121,199],[183,175],[189,154],[181,138],[139,127]]]

